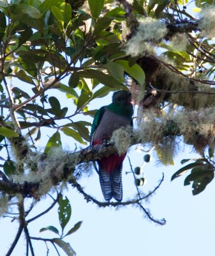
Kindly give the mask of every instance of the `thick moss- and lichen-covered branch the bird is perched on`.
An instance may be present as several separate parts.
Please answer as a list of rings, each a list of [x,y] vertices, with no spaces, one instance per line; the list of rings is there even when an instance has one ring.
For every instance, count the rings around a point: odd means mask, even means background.
[[[28,159],[26,157],[26,164],[32,164],[27,166],[29,176],[20,173],[9,179],[0,173],[0,191],[8,195],[20,194],[38,199],[60,182],[68,182],[76,175],[75,168],[79,164],[112,154],[122,154],[138,143],[163,145],[165,148],[171,138],[184,136],[185,143],[193,145],[197,152],[203,152],[205,147],[215,141],[214,123],[214,108],[161,116],[150,111],[144,112],[137,130],[119,129],[114,132],[111,143],[107,145],[89,146],[77,152],[56,148],[48,155],[38,153]],[[80,168],[80,172],[81,170]]]

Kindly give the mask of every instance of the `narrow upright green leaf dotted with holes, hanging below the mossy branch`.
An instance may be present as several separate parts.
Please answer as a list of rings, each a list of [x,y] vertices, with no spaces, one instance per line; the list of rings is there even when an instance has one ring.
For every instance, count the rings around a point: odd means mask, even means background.
[[[71,217],[71,205],[68,198],[65,196],[65,199],[63,199],[63,195],[60,196],[58,201],[58,217],[59,222],[61,224],[62,232],[64,230],[64,227],[66,227],[66,224],[70,221]]]

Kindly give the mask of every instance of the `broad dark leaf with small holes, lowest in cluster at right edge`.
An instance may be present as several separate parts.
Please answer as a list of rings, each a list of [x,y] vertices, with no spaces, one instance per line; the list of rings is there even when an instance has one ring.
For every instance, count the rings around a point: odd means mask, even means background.
[[[193,168],[191,174],[186,177],[184,180],[184,186],[188,186],[191,182],[193,182],[193,195],[198,195],[206,186],[214,179],[214,171],[212,170],[209,164],[202,164],[202,166],[198,166]]]

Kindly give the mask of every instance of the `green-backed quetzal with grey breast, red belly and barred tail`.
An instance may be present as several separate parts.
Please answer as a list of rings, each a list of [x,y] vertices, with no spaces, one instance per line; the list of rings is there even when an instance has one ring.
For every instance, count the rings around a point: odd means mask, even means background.
[[[112,133],[120,127],[131,125],[133,105],[131,93],[125,90],[114,92],[112,103],[103,106],[96,112],[91,129],[91,145],[98,145],[110,140]],[[112,197],[122,200],[122,162],[126,154],[113,154],[97,161],[101,191],[105,200]]]

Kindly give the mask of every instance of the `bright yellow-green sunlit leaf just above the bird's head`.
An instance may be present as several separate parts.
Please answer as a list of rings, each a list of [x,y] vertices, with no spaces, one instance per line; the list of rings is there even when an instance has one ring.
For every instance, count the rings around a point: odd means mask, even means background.
[[[134,64],[132,67],[128,64],[126,60],[118,60],[116,63],[119,63],[124,67],[124,70],[135,79],[141,86],[145,83],[145,73],[144,70],[138,65]]]

